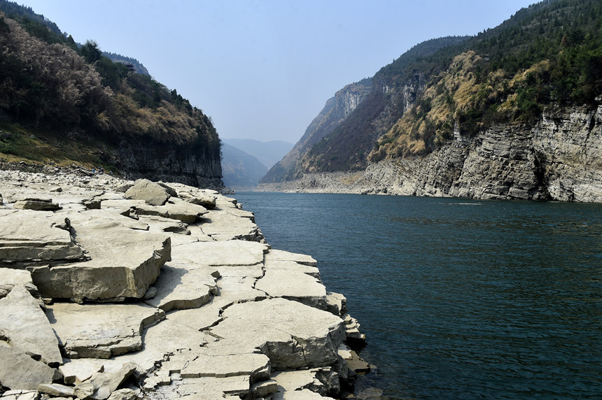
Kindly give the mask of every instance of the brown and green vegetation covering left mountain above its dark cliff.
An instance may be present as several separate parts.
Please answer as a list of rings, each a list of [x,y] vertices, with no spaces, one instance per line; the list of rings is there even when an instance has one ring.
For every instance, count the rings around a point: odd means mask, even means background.
[[[2,2],[7,4],[13,3]],[[111,163],[111,148],[124,140],[194,145],[220,157],[211,120],[176,90],[112,62],[94,41],[78,47],[53,29],[55,24],[30,14],[0,12],[1,153],[31,159],[20,143],[31,131],[55,150],[68,147],[64,141],[74,135],[85,137],[82,145],[102,153],[99,162],[105,165]],[[59,153],[47,152],[48,159],[58,161],[52,154]]]

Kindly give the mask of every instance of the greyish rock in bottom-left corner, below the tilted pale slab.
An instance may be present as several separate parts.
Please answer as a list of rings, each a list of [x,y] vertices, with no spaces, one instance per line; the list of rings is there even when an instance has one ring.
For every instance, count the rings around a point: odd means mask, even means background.
[[[0,382],[13,390],[38,390],[58,378],[57,369],[38,362],[18,348],[0,341]]]

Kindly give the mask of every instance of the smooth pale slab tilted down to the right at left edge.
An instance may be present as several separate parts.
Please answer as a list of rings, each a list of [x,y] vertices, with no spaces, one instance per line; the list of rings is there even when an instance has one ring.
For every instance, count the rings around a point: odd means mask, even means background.
[[[0,330],[15,348],[50,366],[62,363],[59,342],[37,299],[17,285],[0,299]]]

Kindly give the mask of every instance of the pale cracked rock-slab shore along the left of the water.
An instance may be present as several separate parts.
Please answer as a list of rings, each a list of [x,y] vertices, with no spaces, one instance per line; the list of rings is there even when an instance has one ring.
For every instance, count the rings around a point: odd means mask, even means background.
[[[0,399],[346,397],[345,301],[214,190],[0,171]]]

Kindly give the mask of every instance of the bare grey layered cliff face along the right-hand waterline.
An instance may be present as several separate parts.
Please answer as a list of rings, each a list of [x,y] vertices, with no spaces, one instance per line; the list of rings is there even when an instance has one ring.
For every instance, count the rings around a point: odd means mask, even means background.
[[[456,131],[423,158],[307,174],[266,189],[602,202],[602,106],[546,110],[533,127],[497,124],[474,138]]]

